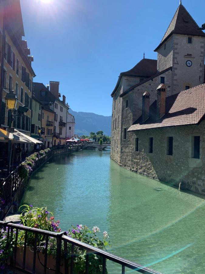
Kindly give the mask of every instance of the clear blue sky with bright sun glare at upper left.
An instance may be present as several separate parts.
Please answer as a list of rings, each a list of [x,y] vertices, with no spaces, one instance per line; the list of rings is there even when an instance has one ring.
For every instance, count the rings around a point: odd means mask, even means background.
[[[111,115],[120,72],[156,59],[178,0],[20,0],[34,82],[60,81],[73,111]],[[204,1],[182,0],[196,23]],[[61,98],[62,100],[62,98]]]

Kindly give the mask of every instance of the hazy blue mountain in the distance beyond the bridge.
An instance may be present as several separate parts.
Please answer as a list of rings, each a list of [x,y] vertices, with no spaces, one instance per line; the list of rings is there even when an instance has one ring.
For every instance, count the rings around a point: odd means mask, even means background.
[[[111,116],[98,115],[91,112],[76,112],[69,109],[75,116],[75,134],[90,135],[90,132],[102,130],[105,135],[111,135]]]

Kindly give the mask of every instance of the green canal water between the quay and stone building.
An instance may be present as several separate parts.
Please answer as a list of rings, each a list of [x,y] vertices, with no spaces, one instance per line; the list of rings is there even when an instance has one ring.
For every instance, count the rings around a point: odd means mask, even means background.
[[[33,174],[24,203],[47,206],[62,230],[98,226],[99,237],[106,230],[108,251],[133,262],[162,273],[205,273],[204,197],[125,170],[110,150],[56,156]]]

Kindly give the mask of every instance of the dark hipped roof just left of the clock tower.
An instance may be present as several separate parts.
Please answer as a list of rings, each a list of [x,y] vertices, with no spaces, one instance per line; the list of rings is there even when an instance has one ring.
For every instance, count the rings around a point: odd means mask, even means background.
[[[118,82],[111,93],[111,96],[117,90],[122,76],[135,76],[135,77],[151,77],[157,73],[157,60],[143,58],[133,68],[128,71],[121,72]]]

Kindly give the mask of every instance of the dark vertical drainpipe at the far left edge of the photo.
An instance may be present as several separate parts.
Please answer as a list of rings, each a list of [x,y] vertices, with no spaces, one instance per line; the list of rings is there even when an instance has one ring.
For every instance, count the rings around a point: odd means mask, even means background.
[[[0,127],[2,126],[2,99],[3,99],[3,78],[4,78],[4,51],[5,51],[5,4],[6,1],[2,1],[3,9],[3,30],[2,30],[2,68],[1,68],[1,84],[0,84]]]

